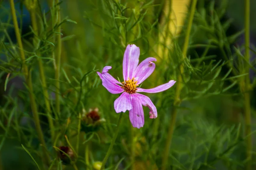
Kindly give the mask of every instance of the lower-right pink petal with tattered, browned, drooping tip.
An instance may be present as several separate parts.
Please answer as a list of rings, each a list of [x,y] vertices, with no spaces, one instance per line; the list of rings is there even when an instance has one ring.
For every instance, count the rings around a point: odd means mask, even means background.
[[[143,94],[135,93],[133,94],[137,96],[138,99],[140,99],[140,102],[143,106],[146,106],[149,108],[149,118],[154,119],[157,118],[157,108],[155,105],[152,103],[151,99],[149,99],[148,96],[145,96]]]

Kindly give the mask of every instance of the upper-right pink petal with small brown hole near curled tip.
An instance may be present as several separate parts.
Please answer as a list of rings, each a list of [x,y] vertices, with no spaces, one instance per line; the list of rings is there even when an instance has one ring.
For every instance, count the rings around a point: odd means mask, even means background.
[[[134,77],[137,81],[137,85],[142,83],[153,73],[156,67],[153,61],[157,61],[157,59],[155,59],[154,57],[148,57],[144,59],[143,62],[141,62],[136,68],[132,77]]]

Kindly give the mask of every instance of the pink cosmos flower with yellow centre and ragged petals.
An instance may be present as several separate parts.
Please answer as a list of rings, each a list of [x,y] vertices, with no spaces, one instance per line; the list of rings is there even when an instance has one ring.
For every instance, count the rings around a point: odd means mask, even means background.
[[[139,64],[140,48],[136,45],[128,45],[125,49],[123,59],[123,77],[124,82],[119,82],[113,78],[109,73],[111,66],[105,66],[102,73],[97,72],[102,79],[102,85],[112,94],[121,94],[115,102],[114,108],[116,113],[129,111],[129,117],[133,127],[143,127],[144,125],[144,113],[143,106],[150,109],[149,117],[151,119],[157,118],[157,108],[148,98],[143,94],[137,92],[146,93],[158,93],[165,91],[172,87],[176,81],[170,80],[168,83],[157,86],[151,89],[137,88],[146,78],[148,78],[155,69],[154,61],[157,59],[148,57]],[[139,64],[139,65],[138,65]]]

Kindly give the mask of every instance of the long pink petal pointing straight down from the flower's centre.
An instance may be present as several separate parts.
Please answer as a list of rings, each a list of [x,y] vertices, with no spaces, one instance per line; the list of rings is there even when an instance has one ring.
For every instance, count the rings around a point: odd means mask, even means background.
[[[144,112],[140,99],[134,94],[131,94],[131,105],[132,109],[129,111],[131,124],[140,129],[144,125]]]

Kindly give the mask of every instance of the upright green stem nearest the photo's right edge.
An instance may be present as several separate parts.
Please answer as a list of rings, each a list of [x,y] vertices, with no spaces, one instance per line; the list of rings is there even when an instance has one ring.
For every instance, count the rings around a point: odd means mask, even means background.
[[[244,39],[245,39],[245,59],[250,62],[250,0],[245,0],[245,14],[244,14]],[[244,84],[244,112],[245,112],[245,135],[248,136],[246,139],[246,155],[247,155],[247,170],[252,168],[252,137],[251,137],[251,113],[250,113],[250,67],[247,65],[245,67],[245,73],[248,75],[245,77]]]

